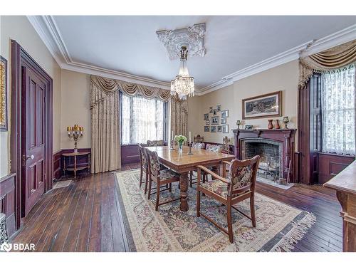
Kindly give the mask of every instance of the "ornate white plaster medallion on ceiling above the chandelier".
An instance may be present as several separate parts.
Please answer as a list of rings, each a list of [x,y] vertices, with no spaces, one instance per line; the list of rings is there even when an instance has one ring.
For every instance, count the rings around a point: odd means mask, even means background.
[[[180,58],[182,46],[187,47],[189,56],[205,56],[204,35],[205,23],[194,24],[188,28],[174,31],[156,31],[159,41],[167,48],[169,59]]]

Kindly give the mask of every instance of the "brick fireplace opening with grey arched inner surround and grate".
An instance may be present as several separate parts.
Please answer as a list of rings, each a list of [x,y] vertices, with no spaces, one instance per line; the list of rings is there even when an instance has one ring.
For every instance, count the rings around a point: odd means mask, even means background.
[[[250,139],[243,140],[241,144],[243,159],[249,159],[255,155],[261,157],[258,165],[258,176],[279,182],[283,172],[283,143],[273,140]]]

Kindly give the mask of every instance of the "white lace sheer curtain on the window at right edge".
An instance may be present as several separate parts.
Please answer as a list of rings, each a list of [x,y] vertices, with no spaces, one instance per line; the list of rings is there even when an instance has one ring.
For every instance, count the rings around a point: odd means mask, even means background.
[[[355,155],[355,66],[322,75],[323,152]]]

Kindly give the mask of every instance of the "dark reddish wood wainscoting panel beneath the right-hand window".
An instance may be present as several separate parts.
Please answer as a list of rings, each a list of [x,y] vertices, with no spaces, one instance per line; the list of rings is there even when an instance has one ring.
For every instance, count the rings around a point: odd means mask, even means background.
[[[336,174],[345,169],[355,157],[344,155],[333,155],[329,153],[318,153],[319,184],[328,182]]]

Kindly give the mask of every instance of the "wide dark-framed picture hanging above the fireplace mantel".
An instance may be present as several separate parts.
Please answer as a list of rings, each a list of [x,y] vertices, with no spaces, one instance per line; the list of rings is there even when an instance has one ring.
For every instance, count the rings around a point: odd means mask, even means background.
[[[242,119],[282,115],[282,91],[242,100]]]

